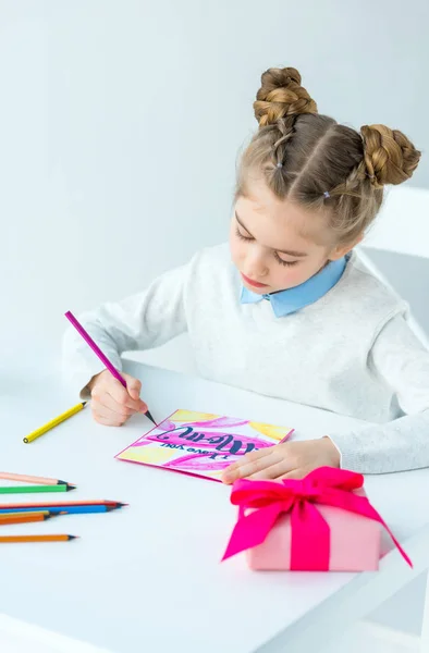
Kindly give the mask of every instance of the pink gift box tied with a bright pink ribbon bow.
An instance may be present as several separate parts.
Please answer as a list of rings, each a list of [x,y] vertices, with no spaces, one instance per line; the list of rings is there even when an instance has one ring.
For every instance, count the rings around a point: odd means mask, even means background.
[[[321,467],[302,480],[242,479],[232,488],[238,519],[226,559],[246,552],[252,569],[373,571],[385,529],[412,563],[364,490],[364,477]]]

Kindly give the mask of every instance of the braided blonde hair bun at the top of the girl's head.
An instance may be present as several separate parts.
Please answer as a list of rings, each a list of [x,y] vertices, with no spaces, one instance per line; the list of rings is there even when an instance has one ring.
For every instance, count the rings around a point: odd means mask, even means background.
[[[296,69],[268,69],[261,75],[261,87],[254,102],[255,118],[260,127],[299,113],[317,113],[317,104],[301,86]]]

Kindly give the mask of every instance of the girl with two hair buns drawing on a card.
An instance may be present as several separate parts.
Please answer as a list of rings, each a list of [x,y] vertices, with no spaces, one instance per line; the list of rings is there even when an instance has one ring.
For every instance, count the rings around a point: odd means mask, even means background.
[[[244,456],[237,478],[302,478],[320,466],[380,473],[429,466],[429,352],[407,305],[354,247],[385,184],[420,152],[384,125],[356,132],[320,115],[292,67],[269,69],[254,102],[259,131],[237,170],[229,248],[206,248],[140,294],[79,316],[121,369],[124,350],[188,332],[201,375],[372,422]],[[69,328],[63,362],[94,418],[120,426],[147,409]]]

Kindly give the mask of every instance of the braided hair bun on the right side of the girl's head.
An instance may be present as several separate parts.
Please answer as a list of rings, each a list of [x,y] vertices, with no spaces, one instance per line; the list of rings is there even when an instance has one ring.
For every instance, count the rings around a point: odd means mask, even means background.
[[[364,125],[360,134],[368,175],[376,187],[401,184],[413,175],[421,152],[405,134],[385,125]]]

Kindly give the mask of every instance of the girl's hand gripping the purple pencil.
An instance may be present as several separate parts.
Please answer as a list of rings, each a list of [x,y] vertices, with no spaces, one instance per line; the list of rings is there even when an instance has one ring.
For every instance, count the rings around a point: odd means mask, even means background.
[[[142,383],[138,379],[124,374],[126,390],[109,370],[93,377],[88,384],[91,395],[94,419],[107,427],[121,427],[134,412],[146,412],[147,406],[142,399]]]

